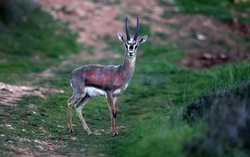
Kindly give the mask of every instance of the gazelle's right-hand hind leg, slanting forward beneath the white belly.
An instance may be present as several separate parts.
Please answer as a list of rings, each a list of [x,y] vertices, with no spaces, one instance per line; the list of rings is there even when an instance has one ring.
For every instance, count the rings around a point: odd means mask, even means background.
[[[88,102],[88,100],[90,99],[90,97],[88,96],[88,94],[86,94],[84,96],[84,98],[81,99],[81,101],[76,105],[76,112],[77,115],[82,123],[83,129],[88,133],[88,135],[92,134],[92,132],[90,131],[83,115],[82,115],[82,109],[85,106],[85,104]]]

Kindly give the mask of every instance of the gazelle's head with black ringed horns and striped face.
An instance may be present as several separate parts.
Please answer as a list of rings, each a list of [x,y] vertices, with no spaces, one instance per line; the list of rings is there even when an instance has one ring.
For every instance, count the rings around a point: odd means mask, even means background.
[[[126,57],[128,58],[133,58],[136,56],[136,51],[138,46],[141,43],[144,43],[147,40],[147,35],[144,35],[142,38],[137,39],[139,35],[139,30],[140,30],[140,25],[139,25],[139,18],[137,17],[137,24],[136,24],[136,32],[133,38],[130,37],[129,35],[129,29],[128,29],[128,20],[127,18],[125,19],[125,32],[126,32],[126,39],[124,36],[119,32],[118,33],[118,39],[124,43],[125,46],[125,52],[126,52]]]

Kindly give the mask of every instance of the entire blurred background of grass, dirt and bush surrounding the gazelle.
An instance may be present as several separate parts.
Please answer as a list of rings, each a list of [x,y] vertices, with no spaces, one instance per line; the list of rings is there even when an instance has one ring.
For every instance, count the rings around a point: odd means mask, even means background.
[[[128,17],[140,18],[136,74],[120,99],[119,136],[106,100],[67,132],[70,72],[121,64]],[[8,156],[250,154],[249,0],[0,0],[0,150]],[[145,78],[146,79],[146,78]]]

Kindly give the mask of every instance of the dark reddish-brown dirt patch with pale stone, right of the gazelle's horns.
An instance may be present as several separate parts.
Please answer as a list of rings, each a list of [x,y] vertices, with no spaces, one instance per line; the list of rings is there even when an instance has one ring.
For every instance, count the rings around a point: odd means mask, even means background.
[[[237,30],[232,31],[231,25],[201,15],[182,16],[169,22],[183,26],[172,40],[187,51],[181,61],[184,66],[208,68],[249,58],[247,45],[239,42],[241,35]]]

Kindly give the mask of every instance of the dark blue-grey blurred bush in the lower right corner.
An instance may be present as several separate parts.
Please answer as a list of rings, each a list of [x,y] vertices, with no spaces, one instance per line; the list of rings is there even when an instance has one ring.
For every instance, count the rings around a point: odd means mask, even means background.
[[[191,104],[186,120],[206,121],[205,135],[185,144],[187,156],[248,156],[250,153],[250,84],[205,96]]]

